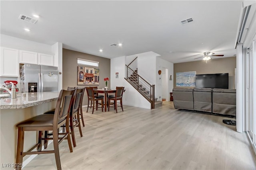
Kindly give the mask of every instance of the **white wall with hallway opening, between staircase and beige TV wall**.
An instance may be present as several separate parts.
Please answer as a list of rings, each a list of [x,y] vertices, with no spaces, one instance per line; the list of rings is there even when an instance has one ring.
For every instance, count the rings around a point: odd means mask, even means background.
[[[173,89],[173,80],[170,80],[170,75],[172,75],[173,78],[173,63],[156,57],[156,68],[156,72],[158,72],[158,70],[168,70],[168,72],[165,73],[166,92],[162,92],[162,79],[164,78],[163,75],[156,75],[156,97],[160,101],[161,99],[159,99],[159,96],[162,96],[162,93],[165,93],[164,96],[166,96],[166,101],[170,101],[170,92],[172,92]]]

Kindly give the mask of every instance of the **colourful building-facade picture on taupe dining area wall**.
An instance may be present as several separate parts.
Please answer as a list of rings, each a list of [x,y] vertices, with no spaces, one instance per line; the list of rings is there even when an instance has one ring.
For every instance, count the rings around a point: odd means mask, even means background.
[[[86,66],[78,66],[77,85],[99,85],[100,70],[98,68],[90,68]]]

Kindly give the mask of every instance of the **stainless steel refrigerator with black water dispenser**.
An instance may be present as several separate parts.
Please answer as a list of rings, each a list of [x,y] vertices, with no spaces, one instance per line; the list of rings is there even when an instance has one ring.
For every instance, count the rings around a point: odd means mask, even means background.
[[[21,92],[58,92],[58,67],[24,64],[20,68]]]

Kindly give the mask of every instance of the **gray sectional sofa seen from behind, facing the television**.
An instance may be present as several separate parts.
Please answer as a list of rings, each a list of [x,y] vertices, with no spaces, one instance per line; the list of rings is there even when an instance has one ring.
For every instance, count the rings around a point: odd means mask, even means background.
[[[217,88],[174,88],[175,109],[236,116],[236,90]]]

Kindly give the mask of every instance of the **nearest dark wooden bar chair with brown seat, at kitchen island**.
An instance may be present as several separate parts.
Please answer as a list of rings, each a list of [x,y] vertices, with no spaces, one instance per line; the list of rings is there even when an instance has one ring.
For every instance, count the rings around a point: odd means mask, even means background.
[[[28,154],[47,154],[54,153],[57,169],[61,170],[60,164],[60,153],[59,153],[59,144],[64,140],[68,140],[68,147],[70,152],[72,150],[72,144],[70,139],[69,131],[69,115],[70,108],[72,105],[72,100],[74,100],[74,91],[75,90],[61,90],[55,112],[54,114],[41,114],[25,121],[22,121],[16,125],[18,127],[18,144],[17,144],[17,155],[16,155],[16,164],[20,165],[23,161],[23,157]],[[66,133],[59,133],[58,128],[66,124]],[[38,142],[28,149],[26,152],[23,151],[24,147],[24,132],[25,131],[38,131]],[[43,138],[44,131],[52,131],[52,138]],[[64,135],[60,137],[59,135]],[[60,139],[60,140],[59,140]],[[42,141],[44,140],[53,140],[54,150],[42,151]],[[37,148],[37,151],[32,151]],[[43,164],[44,162],[42,162]],[[21,166],[16,167],[16,170],[21,170]]]

